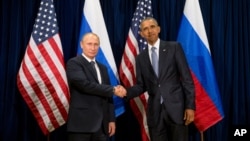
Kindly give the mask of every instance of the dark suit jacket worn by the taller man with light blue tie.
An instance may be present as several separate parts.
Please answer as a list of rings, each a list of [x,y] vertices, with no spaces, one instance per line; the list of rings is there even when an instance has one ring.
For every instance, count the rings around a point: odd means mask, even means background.
[[[157,124],[161,95],[170,120],[184,124],[184,109],[195,109],[195,94],[189,67],[179,43],[160,41],[159,77],[151,65],[148,49],[142,51],[136,57],[136,77],[136,85],[127,90],[127,99],[148,92],[149,126]]]

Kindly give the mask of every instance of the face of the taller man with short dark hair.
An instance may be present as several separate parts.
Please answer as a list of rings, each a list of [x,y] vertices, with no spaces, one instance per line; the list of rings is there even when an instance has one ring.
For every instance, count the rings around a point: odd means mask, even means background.
[[[159,36],[160,27],[154,20],[146,20],[141,23],[140,34],[149,44],[153,45]]]

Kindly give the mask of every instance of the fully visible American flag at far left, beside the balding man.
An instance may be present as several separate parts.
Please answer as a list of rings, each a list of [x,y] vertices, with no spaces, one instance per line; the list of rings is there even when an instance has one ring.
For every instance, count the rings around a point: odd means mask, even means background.
[[[52,0],[41,1],[17,86],[45,135],[66,122],[69,89]]]

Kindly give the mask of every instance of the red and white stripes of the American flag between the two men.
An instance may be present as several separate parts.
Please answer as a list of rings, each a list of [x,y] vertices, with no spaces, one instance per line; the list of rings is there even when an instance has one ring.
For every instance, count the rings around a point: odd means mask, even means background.
[[[119,68],[120,79],[126,87],[133,86],[136,83],[135,57],[139,54],[138,42],[134,37],[131,28],[129,29],[128,34]],[[130,100],[130,106],[141,127],[142,141],[150,140],[146,120],[147,99],[148,95],[147,93],[144,93],[139,97]]]

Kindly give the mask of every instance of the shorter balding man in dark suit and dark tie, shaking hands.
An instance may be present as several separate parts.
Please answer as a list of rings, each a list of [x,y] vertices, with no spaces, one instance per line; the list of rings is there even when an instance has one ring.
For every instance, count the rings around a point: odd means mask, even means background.
[[[81,40],[83,53],[67,62],[70,88],[67,121],[69,141],[107,141],[115,133],[113,93],[107,68],[95,60],[100,40],[87,33]],[[92,66],[93,65],[93,66]]]

